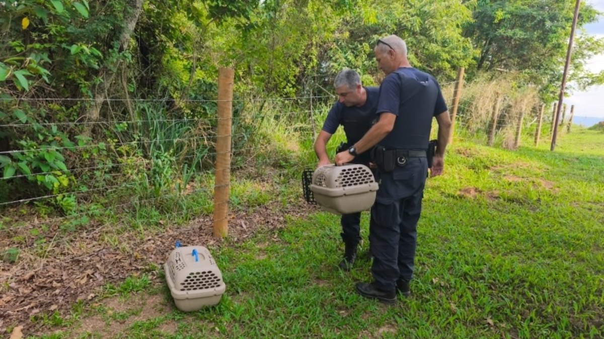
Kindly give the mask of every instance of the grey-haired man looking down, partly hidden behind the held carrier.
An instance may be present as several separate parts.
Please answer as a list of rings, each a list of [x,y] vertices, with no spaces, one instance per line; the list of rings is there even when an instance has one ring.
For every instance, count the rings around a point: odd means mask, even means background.
[[[347,150],[355,153],[353,163],[368,166],[369,152],[355,152],[352,145],[358,142],[371,128],[371,122],[376,118],[378,87],[363,87],[361,77],[352,69],[343,69],[336,75],[334,81],[338,101],[327,113],[323,128],[315,141],[315,153],[319,159],[318,167],[330,165],[326,145],[339,125],[344,127]],[[339,268],[349,271],[356,259],[356,250],[361,240],[361,212],[342,215],[342,241],[344,241],[344,259]]]

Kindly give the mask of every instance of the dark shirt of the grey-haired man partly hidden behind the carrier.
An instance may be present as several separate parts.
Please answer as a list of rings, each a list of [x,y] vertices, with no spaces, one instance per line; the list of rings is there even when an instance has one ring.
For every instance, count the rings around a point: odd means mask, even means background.
[[[379,98],[378,87],[364,87],[367,92],[367,101],[361,107],[347,107],[337,101],[327,113],[323,124],[323,130],[329,134],[336,133],[339,125],[344,127],[347,144],[356,144],[371,128],[376,119],[377,100]],[[359,154],[355,162],[366,163],[369,161],[369,152]]]

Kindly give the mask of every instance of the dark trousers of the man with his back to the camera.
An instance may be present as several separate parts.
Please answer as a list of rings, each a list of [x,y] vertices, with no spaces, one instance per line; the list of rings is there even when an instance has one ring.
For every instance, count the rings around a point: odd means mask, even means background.
[[[377,174],[381,182],[371,208],[369,228],[374,256],[371,273],[377,288],[393,290],[397,279],[413,277],[417,221],[422,213],[427,171],[425,157],[411,157],[405,166]]]

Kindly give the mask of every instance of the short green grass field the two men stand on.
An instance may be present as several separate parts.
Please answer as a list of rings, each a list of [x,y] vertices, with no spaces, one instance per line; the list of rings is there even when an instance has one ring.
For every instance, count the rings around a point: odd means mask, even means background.
[[[370,279],[368,215],[344,273],[339,218],[313,212],[214,253],[227,290],[213,308],[177,311],[158,269],[74,306],[69,322],[44,318],[43,337],[604,337],[604,134],[546,144],[451,147],[425,191],[413,296],[394,306],[354,291]]]

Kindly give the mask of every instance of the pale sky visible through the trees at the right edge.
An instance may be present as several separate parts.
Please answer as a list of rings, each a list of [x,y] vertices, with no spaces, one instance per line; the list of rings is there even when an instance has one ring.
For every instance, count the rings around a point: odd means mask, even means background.
[[[604,13],[604,0],[586,0],[596,10]],[[585,25],[587,34],[604,38],[604,15],[600,16],[598,22],[590,25]],[[588,69],[592,72],[604,70],[604,51],[594,56],[588,63]],[[593,86],[583,92],[575,91],[570,97],[564,98],[564,103],[569,107],[574,105],[574,115],[576,116],[593,116],[604,118],[604,86]]]

